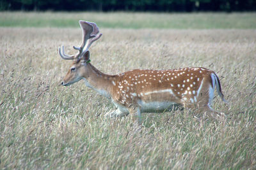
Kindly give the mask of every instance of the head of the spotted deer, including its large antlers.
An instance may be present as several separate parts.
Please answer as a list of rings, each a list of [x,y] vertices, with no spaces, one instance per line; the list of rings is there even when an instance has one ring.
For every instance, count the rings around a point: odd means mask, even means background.
[[[58,50],[62,59],[73,61],[68,73],[61,83],[61,85],[64,86],[76,83],[77,81],[81,80],[83,76],[88,76],[88,68],[86,66],[90,62],[89,48],[94,41],[102,36],[102,34],[99,33],[99,28],[95,23],[80,20],[79,24],[83,31],[83,41],[81,46],[73,46],[73,48],[78,50],[78,52],[74,55],[67,55],[64,52],[64,46],[59,47]]]

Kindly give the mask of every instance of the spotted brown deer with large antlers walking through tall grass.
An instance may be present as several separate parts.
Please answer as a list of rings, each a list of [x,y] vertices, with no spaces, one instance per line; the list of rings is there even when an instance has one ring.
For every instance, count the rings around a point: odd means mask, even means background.
[[[86,87],[111,99],[116,110],[108,117],[131,115],[133,121],[141,122],[141,113],[172,110],[173,106],[195,109],[214,118],[225,115],[211,108],[216,89],[222,101],[220,79],[214,71],[205,67],[179,69],[132,69],[115,75],[105,74],[91,64],[89,48],[102,36],[97,24],[79,21],[83,31],[81,46],[73,46],[78,52],[68,55],[64,46],[58,48],[60,57],[72,60],[68,73],[61,85],[68,86],[84,80]]]

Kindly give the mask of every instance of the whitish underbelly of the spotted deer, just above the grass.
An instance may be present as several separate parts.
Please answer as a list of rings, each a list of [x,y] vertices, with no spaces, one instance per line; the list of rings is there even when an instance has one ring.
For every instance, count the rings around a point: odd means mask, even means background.
[[[157,112],[157,111],[170,111],[173,108],[179,106],[178,103],[170,101],[154,101],[154,102],[145,102],[142,100],[138,101],[138,104],[141,108],[141,112]]]

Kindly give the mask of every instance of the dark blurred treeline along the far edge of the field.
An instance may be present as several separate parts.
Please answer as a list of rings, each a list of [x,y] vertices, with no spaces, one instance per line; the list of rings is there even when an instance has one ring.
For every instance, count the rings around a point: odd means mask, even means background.
[[[0,10],[255,11],[256,0],[0,0]]]

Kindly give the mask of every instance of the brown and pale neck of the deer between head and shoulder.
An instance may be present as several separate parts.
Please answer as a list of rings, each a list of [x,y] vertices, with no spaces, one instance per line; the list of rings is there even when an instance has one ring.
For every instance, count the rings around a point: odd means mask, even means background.
[[[99,94],[110,98],[111,81],[113,80],[113,76],[100,72],[90,63],[88,63],[86,67],[89,73],[88,76],[83,76],[86,86],[96,90]]]

